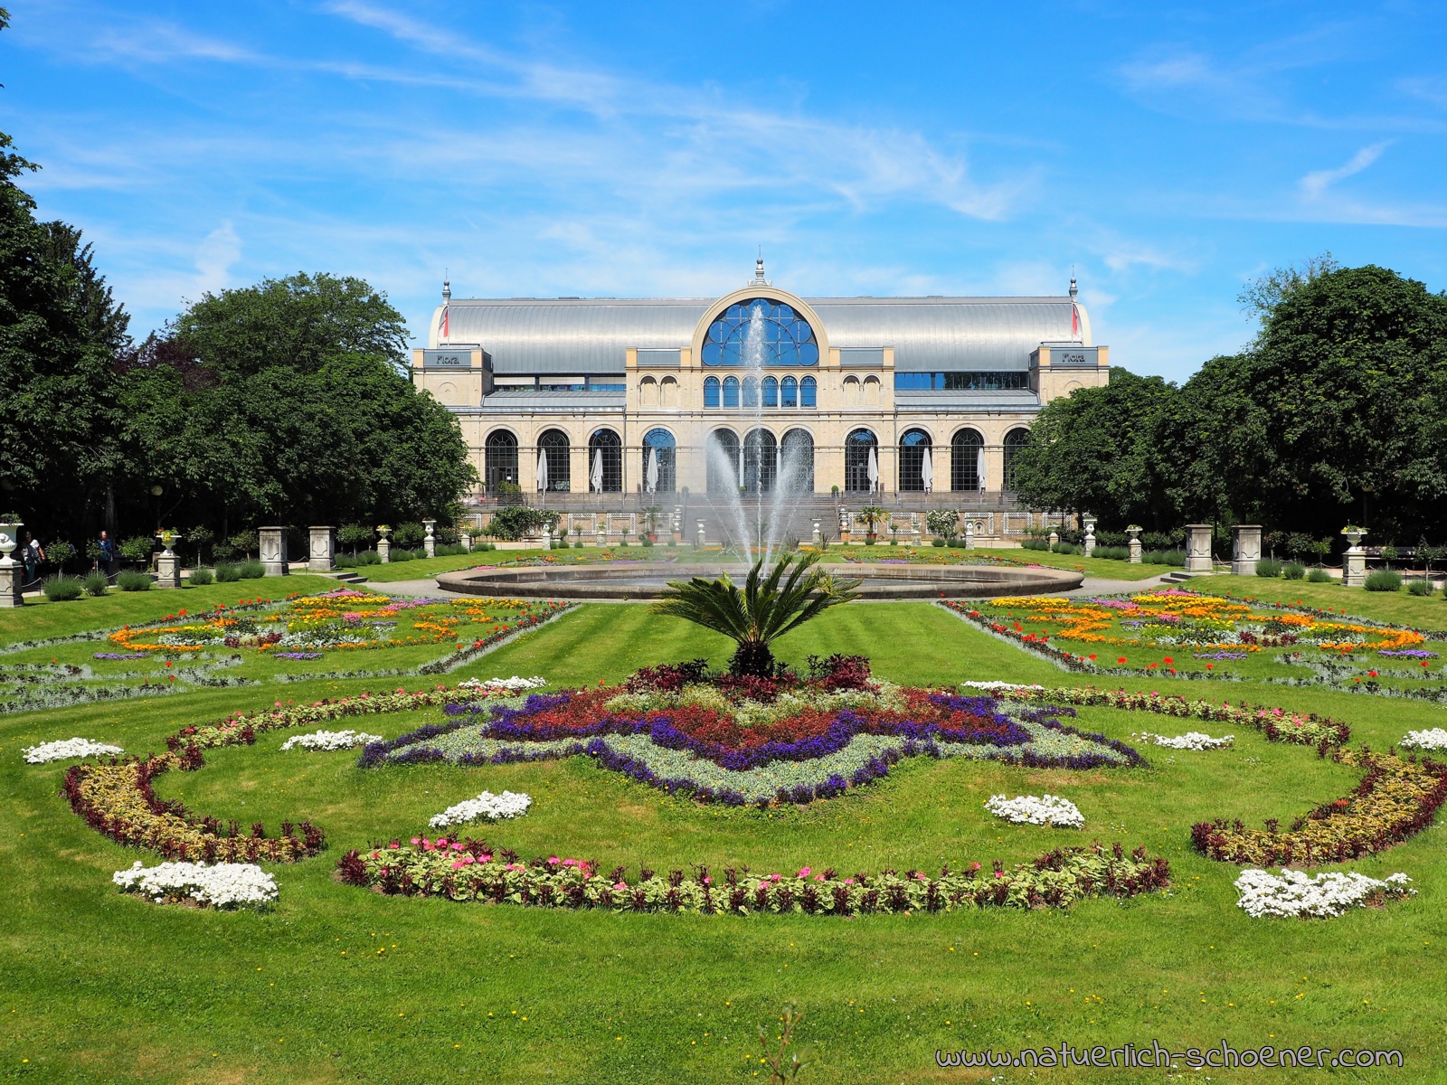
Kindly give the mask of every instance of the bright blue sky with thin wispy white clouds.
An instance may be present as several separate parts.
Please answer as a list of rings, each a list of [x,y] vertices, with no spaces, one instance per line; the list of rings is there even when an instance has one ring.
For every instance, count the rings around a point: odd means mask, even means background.
[[[10,0],[0,129],[145,333],[204,291],[1061,294],[1140,373],[1330,249],[1447,286],[1447,6]],[[1001,14],[1001,12],[1006,12]]]

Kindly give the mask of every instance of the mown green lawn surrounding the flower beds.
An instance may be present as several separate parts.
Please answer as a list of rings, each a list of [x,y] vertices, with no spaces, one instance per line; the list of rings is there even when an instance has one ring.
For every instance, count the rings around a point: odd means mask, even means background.
[[[217,589],[185,595],[204,590]],[[148,602],[85,600],[27,609],[26,616],[67,608],[81,615],[94,603],[88,613],[107,624],[117,618],[101,608]],[[0,631],[9,629],[0,622]],[[839,608],[778,647],[792,663],[812,652],[862,652],[878,676],[904,683],[1075,681],[928,603]],[[647,608],[589,605],[449,681],[541,674],[561,686],[593,684],[650,663],[702,655],[721,664],[728,652],[724,638]],[[761,1082],[764,1075],[754,1076],[757,1026],[793,1001],[805,1013],[800,1034],[816,1059],[805,1082],[987,1081],[990,1071],[936,1069],[935,1050],[1058,1047],[1062,1040],[1149,1047],[1152,1037],[1176,1049],[1221,1037],[1236,1047],[1398,1047],[1406,1071],[1395,1078],[1333,1073],[1347,1081],[1441,1076],[1433,1066],[1447,1056],[1443,827],[1351,864],[1376,877],[1408,872],[1421,891],[1414,900],[1330,922],[1247,919],[1234,904],[1236,869],[1191,852],[1189,825],[1217,814],[1285,822],[1344,794],[1357,778],[1310,748],[1268,744],[1255,732],[1237,733],[1237,745],[1224,751],[1146,748],[1150,765],[1137,770],[1069,773],[917,758],[878,786],[768,813],[667,799],[582,758],[360,771],[350,754],[281,754],[285,735],[273,733],[252,748],[208,751],[201,771],[172,773],[156,786],[162,797],[218,817],[275,825],[311,816],[327,830],[328,851],[320,858],[271,868],[281,900],[265,914],[159,909],[120,895],[110,874],[155,856],[106,841],[69,813],[56,794],[68,762],[30,767],[19,758],[22,745],[71,735],[133,752],[161,749],[185,723],[275,699],[389,684],[197,690],[0,716],[0,864],[9,874],[0,888],[7,965],[0,1014],[9,1018],[0,1075],[56,1082]],[[1160,678],[1119,684],[1202,693],[1200,683]],[[1447,720],[1427,705],[1252,681],[1233,684],[1230,696],[1338,716],[1351,723],[1354,744],[1373,748]],[[421,712],[359,726],[394,736],[437,718]],[[1081,723],[1126,741],[1145,728],[1189,729],[1108,710],[1082,712]],[[1207,729],[1220,733],[1218,726]],[[381,897],[333,881],[344,849],[414,835],[430,814],[483,788],[524,790],[534,807],[480,835],[524,855],[596,858],[605,869],[745,862],[787,874],[805,864],[904,869],[946,861],[980,861],[988,869],[991,859],[1024,861],[1098,838],[1165,855],[1175,887],[1168,897],[1087,901],[1069,911],[839,920],[464,906]],[[1000,791],[1065,794],[1085,812],[1087,829],[1007,826],[981,806]],[[1026,1075],[1004,1071],[996,1081],[1160,1079],[1159,1071]],[[1229,1076],[1321,1078],[1305,1069]]]

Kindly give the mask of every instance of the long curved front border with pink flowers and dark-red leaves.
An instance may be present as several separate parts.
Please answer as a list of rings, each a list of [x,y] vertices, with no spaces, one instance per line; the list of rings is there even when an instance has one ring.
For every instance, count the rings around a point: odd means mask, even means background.
[[[923,871],[883,871],[841,878],[805,867],[794,875],[750,874],[728,868],[716,884],[708,867],[692,877],[682,869],[658,877],[642,868],[634,882],[625,868],[606,877],[593,861],[556,855],[528,864],[511,851],[493,851],[485,841],[414,841],[347,852],[337,864],[340,881],[376,893],[405,897],[446,897],[453,901],[525,904],[550,909],[608,909],[621,911],[702,913],[708,916],[802,913],[809,916],[913,914],[980,907],[1068,907],[1085,897],[1133,897],[1169,885],[1171,867],[1149,858],[1145,848],[1130,855],[1116,843],[1058,848],[1032,862],[994,877],[977,877],[980,864],[965,871],[943,868],[938,878]]]

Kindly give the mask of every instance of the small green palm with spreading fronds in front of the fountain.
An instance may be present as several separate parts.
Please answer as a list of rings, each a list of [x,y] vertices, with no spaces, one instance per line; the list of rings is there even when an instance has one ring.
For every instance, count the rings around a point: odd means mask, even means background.
[[[819,554],[786,554],[765,577],[764,560],[760,558],[748,570],[742,592],[728,573],[718,580],[697,576],[673,580],[653,612],[684,618],[731,637],[738,648],[729,671],[770,678],[776,670],[774,654],[768,648],[773,639],[818,618],[831,606],[858,599],[855,589],[860,580],[836,580],[822,569],[812,569],[818,560]],[[789,579],[780,586],[784,573]]]

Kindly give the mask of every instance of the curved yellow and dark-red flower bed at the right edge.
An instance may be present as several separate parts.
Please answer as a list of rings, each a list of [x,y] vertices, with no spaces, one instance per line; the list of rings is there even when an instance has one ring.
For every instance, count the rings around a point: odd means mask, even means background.
[[[1338,751],[1334,760],[1366,768],[1349,797],[1323,803],[1298,817],[1289,832],[1279,832],[1273,822],[1266,829],[1247,829],[1240,820],[1224,817],[1198,822],[1191,826],[1191,843],[1221,862],[1257,867],[1344,862],[1421,832],[1447,800],[1447,767],[1433,761],[1370,751]]]

